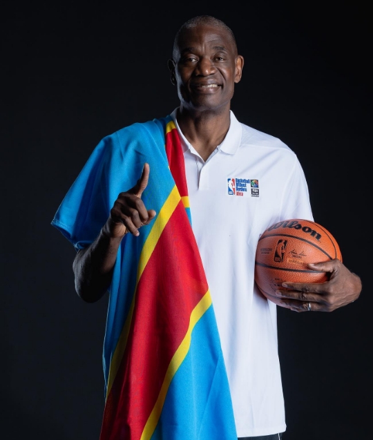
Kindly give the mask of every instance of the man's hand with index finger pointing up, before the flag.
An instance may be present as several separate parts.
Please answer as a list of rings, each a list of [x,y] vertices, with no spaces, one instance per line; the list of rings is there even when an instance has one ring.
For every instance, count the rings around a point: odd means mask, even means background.
[[[110,217],[102,228],[102,233],[111,238],[122,238],[127,232],[134,236],[140,235],[139,229],[149,224],[155,217],[154,209],[146,209],[141,200],[142,193],[149,180],[150,167],[145,163],[142,174],[133,188],[118,195]]]

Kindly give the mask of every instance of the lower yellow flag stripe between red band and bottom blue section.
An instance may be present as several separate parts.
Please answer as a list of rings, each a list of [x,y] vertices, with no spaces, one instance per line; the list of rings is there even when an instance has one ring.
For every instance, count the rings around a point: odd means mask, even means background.
[[[149,419],[146,421],[144,431],[142,432],[142,436],[140,440],[151,439],[155,427],[157,426],[158,420],[160,419],[160,414],[162,412],[164,401],[166,399],[166,394],[167,391],[169,390],[169,386],[173,379],[173,376],[175,376],[176,372],[178,371],[178,368],[182,364],[182,361],[184,361],[185,356],[187,356],[189,352],[189,348],[191,346],[191,332],[193,331],[195,324],[197,324],[198,321],[200,321],[200,318],[210,307],[211,303],[212,303],[211,295],[210,295],[210,291],[208,290],[206,294],[204,294],[200,302],[194,307],[193,312],[191,312],[191,318],[189,320],[189,327],[187,330],[187,334],[185,334],[182,343],[179,345],[178,350],[176,350],[175,354],[173,355],[173,358],[171,359],[171,362],[169,363],[169,367],[167,368],[166,371],[166,376],[164,376],[164,381],[162,383],[160,394],[158,395],[158,399],[155,402],[154,408],[151,412],[151,415],[149,416]]]

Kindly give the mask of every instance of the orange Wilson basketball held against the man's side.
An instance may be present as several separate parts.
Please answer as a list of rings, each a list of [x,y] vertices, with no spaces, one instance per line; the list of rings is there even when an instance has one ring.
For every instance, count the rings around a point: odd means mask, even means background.
[[[323,283],[325,272],[313,271],[309,262],[338,258],[341,251],[336,239],[320,224],[292,218],[272,224],[258,240],[255,258],[255,281],[267,298],[273,298],[282,283]]]

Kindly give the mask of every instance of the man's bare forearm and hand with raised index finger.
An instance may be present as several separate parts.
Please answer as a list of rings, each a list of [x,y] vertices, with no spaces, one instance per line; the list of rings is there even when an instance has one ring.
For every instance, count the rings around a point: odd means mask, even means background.
[[[149,164],[144,164],[142,175],[135,186],[118,195],[110,217],[96,240],[85,249],[80,249],[75,256],[75,289],[87,303],[95,303],[110,287],[117,251],[126,233],[138,236],[140,227],[155,217],[155,211],[147,210],[141,200],[148,180]]]

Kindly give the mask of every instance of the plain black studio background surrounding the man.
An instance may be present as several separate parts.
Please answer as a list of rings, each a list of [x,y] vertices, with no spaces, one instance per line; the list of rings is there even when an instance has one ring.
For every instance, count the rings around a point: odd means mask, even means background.
[[[364,285],[331,314],[278,310],[284,440],[371,438],[372,35],[363,4],[2,7],[1,439],[99,437],[107,298],[77,297],[75,251],[50,221],[102,137],[178,105],[166,61],[176,30],[200,14],[231,26],[245,57],[233,112],[296,152],[316,222]]]

